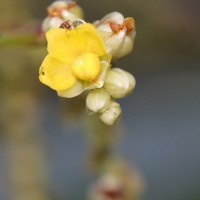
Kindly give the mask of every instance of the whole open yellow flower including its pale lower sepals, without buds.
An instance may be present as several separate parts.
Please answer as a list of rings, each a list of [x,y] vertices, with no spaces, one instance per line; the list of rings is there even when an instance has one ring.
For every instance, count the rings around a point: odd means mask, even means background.
[[[63,97],[103,86],[111,56],[92,24],[74,29],[53,28],[46,37],[49,54],[39,71],[42,83]]]

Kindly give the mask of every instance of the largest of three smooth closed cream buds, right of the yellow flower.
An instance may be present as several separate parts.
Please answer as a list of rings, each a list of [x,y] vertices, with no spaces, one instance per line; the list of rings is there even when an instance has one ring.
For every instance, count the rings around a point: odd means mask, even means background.
[[[132,74],[120,68],[113,68],[106,75],[104,88],[113,98],[122,98],[133,91],[135,84]]]

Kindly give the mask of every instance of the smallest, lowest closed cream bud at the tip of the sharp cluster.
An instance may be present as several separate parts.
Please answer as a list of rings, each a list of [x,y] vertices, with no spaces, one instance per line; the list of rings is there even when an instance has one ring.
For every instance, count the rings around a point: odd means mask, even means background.
[[[117,102],[112,101],[108,108],[99,115],[99,118],[107,125],[112,126],[115,124],[120,115],[122,113],[122,109]]]

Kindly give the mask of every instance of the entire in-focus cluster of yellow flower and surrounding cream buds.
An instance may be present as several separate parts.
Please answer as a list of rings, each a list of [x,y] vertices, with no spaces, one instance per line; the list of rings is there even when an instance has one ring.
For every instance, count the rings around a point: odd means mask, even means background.
[[[83,21],[82,9],[73,1],[56,1],[48,7],[42,24],[48,55],[39,70],[39,79],[59,96],[72,98],[89,90],[86,106],[107,125],[121,115],[115,101],[130,94],[135,79],[112,61],[129,54],[135,38],[135,24],[112,12],[92,23]]]

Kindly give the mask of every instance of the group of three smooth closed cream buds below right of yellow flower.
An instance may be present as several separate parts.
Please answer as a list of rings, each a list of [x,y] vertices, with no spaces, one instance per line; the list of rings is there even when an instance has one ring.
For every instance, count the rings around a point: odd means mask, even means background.
[[[116,123],[121,115],[120,104],[117,98],[130,94],[135,87],[135,78],[119,68],[110,69],[101,89],[92,90],[86,99],[86,105],[92,113],[98,113],[99,118],[107,125]]]

